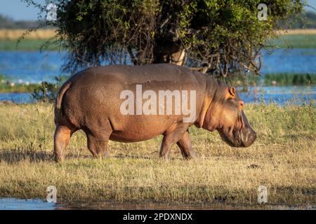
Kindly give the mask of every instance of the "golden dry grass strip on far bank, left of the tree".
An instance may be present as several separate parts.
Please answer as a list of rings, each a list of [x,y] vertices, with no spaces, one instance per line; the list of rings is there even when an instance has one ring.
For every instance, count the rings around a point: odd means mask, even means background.
[[[0,29],[0,40],[17,40],[22,34],[25,33],[25,29]],[[27,34],[27,39],[43,40],[55,36],[55,29],[37,29]]]

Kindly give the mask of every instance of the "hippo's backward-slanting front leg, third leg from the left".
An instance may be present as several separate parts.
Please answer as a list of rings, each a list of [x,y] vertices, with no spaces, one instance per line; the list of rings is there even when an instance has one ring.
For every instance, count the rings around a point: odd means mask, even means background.
[[[167,132],[164,134],[164,138],[162,139],[162,146],[160,148],[159,156],[161,158],[168,158],[171,147],[176,144],[183,134],[187,130],[187,123],[179,123],[176,128],[174,128],[171,132]]]

